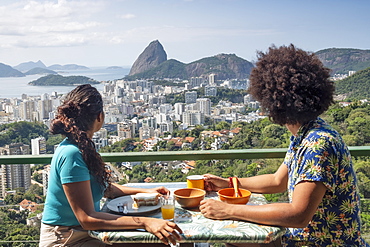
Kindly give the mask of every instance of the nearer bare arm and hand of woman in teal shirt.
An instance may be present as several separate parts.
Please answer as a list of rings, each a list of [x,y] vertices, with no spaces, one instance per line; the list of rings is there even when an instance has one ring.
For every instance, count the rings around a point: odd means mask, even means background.
[[[119,216],[96,212],[90,189],[90,181],[63,184],[68,202],[81,226],[85,230],[145,229],[155,234],[163,243],[176,243],[181,229],[173,222],[162,219]]]

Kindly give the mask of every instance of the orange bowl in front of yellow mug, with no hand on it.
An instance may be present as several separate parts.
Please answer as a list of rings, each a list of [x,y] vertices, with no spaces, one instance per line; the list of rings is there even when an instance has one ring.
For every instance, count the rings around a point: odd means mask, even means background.
[[[183,208],[196,208],[200,201],[204,199],[206,192],[196,188],[178,189],[173,192],[176,201]]]

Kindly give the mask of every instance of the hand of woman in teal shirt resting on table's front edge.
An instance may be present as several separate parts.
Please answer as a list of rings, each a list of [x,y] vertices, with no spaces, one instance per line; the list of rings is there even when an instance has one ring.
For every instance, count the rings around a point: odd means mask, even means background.
[[[156,235],[164,244],[176,244],[177,241],[181,240],[180,234],[182,230],[176,223],[156,219],[156,218],[147,218],[144,222],[145,230]]]

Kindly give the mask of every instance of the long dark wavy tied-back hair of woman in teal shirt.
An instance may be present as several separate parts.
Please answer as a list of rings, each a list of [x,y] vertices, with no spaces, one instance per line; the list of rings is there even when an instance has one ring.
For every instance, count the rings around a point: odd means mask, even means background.
[[[76,87],[67,94],[58,107],[57,116],[50,126],[52,134],[65,135],[76,144],[86,165],[102,187],[109,184],[109,174],[94,142],[87,136],[98,115],[103,113],[103,100],[99,91],[90,84]]]

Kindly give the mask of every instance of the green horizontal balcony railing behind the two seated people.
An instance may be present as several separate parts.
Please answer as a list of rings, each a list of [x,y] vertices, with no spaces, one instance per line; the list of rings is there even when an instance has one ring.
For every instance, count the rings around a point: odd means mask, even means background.
[[[351,155],[370,156],[370,146],[349,147]],[[170,160],[218,160],[218,159],[276,159],[284,158],[286,148],[233,149],[202,151],[161,151],[101,153],[105,162],[170,161]],[[0,164],[50,164],[52,154],[0,155]]]

